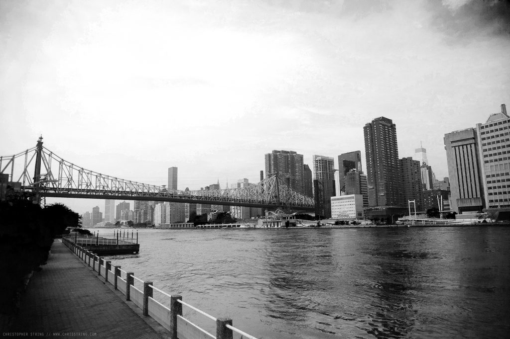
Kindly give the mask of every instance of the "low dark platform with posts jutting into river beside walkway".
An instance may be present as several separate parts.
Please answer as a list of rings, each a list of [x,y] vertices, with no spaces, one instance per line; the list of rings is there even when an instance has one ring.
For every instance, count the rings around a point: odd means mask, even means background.
[[[119,233],[115,233],[115,238],[87,236],[82,234],[74,234],[63,236],[69,242],[82,246],[84,249],[95,253],[98,256],[114,256],[137,254],[140,251],[140,244],[138,243],[138,233],[136,239],[133,237],[123,237]]]

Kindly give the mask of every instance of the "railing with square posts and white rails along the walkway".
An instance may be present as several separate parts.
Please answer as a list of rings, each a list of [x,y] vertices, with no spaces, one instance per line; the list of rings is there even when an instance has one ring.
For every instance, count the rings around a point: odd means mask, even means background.
[[[121,292],[125,296],[126,301],[133,301],[135,305],[140,307],[144,316],[151,317],[169,330],[172,339],[177,339],[177,335],[179,335],[179,339],[202,338],[204,335],[216,339],[230,339],[233,338],[234,332],[240,334],[241,338],[257,339],[253,335],[234,327],[232,319],[215,318],[201,309],[184,302],[181,295],[172,295],[158,289],[152,281],[144,281],[136,277],[133,272],[127,272],[121,269],[120,266],[112,265],[111,261],[97,256],[69,238],[63,237],[62,243],[83,260],[85,265],[90,266],[92,271],[97,272],[98,277],[103,277],[105,283],[110,283],[115,290]],[[125,279],[122,278],[121,273],[124,273]],[[135,287],[135,280],[143,285],[143,290]],[[154,291],[162,294],[166,301],[154,298]],[[168,301],[170,306],[164,304],[164,302],[168,303]],[[190,319],[184,317],[183,305],[214,321],[216,323],[216,335],[202,329]]]

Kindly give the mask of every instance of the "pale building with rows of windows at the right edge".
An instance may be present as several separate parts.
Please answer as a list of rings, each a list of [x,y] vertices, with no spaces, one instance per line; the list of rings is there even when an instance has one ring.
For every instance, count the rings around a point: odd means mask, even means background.
[[[510,117],[505,104],[476,130],[485,207],[510,208]]]

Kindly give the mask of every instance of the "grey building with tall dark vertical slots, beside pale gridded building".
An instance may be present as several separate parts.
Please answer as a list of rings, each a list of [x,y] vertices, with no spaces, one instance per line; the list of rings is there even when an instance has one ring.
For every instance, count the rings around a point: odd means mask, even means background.
[[[484,127],[483,130],[485,129]],[[485,138],[486,136],[482,140],[482,147],[487,148],[488,142]],[[476,129],[467,128],[447,133],[444,144],[450,179],[451,209],[459,214],[476,213],[485,205]]]

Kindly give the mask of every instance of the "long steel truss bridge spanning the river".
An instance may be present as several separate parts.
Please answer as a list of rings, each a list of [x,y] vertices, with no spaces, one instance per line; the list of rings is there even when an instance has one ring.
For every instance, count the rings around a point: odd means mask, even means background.
[[[0,156],[0,174],[21,190],[41,197],[83,199],[146,200],[160,202],[231,205],[269,209],[313,211],[314,201],[287,184],[285,178],[272,175],[251,186],[235,189],[180,191],[119,179],[86,170],[42,146],[10,156]]]

